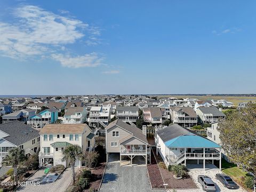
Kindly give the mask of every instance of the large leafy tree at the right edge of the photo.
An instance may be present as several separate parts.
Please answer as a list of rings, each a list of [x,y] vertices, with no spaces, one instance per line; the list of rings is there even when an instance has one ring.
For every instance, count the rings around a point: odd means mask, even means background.
[[[256,174],[256,103],[228,114],[217,130],[230,161]]]

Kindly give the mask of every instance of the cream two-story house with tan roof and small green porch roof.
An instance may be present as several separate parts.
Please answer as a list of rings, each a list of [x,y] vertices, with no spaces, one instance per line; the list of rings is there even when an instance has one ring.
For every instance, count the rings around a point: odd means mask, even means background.
[[[62,162],[62,151],[69,145],[78,145],[83,151],[94,148],[94,134],[87,124],[46,124],[40,131],[41,147],[39,164],[62,164],[68,166],[69,162]],[[75,166],[82,166],[77,159]]]

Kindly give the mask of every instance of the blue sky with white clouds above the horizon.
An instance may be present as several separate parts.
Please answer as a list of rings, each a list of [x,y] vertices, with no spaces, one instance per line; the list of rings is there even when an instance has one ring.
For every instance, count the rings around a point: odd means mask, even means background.
[[[256,93],[256,1],[0,1],[0,95]]]

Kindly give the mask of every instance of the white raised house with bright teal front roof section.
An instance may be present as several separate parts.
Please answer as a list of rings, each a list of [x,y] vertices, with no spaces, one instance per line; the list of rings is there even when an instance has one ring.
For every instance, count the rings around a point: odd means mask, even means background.
[[[157,153],[161,155],[166,165],[185,164],[191,167],[203,165],[205,170],[205,166],[218,161],[221,169],[221,146],[178,124],[157,131],[155,143]]]

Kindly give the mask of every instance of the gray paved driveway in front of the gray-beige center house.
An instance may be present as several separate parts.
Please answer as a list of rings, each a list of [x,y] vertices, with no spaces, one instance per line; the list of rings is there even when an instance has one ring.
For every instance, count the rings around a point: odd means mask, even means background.
[[[146,166],[120,166],[108,163],[100,192],[149,192],[150,187]],[[154,190],[156,192],[158,190]],[[162,190],[163,191],[163,190]]]

